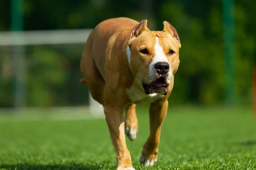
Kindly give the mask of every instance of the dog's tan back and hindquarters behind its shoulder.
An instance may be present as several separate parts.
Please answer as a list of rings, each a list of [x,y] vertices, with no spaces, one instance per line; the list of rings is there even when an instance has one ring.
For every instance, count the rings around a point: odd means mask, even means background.
[[[117,33],[128,36],[137,24],[137,21],[125,17],[105,20],[91,31],[87,39],[80,63],[81,73],[84,77],[82,82],[86,82],[93,99],[102,105],[104,105],[105,54],[108,40]]]

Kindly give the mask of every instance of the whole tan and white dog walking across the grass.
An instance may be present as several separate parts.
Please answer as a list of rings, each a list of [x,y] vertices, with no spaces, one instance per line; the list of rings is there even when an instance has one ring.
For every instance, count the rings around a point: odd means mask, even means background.
[[[101,22],[91,31],[80,63],[82,81],[93,99],[104,106],[117,170],[134,170],[125,133],[131,141],[136,138],[135,106],[145,102],[151,104],[150,135],[140,162],[144,166],[156,163],[167,99],[180,63],[180,47],[175,28],[166,21],[163,31],[150,31],[147,20],[139,23],[119,17]]]

